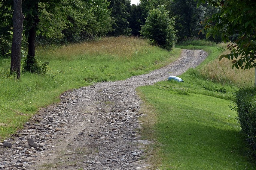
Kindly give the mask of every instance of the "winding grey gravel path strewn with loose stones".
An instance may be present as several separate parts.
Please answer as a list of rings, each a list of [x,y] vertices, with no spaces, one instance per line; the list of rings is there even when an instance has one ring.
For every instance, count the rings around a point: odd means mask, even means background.
[[[180,59],[149,74],[62,94],[59,105],[35,116],[39,123],[26,124],[21,137],[13,141],[16,149],[5,148],[2,154],[1,148],[0,165],[7,161],[3,169],[148,169],[141,159],[148,141],[138,134],[142,101],[135,89],[180,75],[206,56],[202,50],[183,50]],[[24,148],[29,138],[37,142],[38,151]],[[10,165],[12,160],[16,162]]]

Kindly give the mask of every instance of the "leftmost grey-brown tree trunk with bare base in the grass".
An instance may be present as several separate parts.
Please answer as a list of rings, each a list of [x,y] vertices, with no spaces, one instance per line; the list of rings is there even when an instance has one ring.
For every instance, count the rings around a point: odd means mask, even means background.
[[[13,12],[13,39],[11,45],[11,74],[16,73],[20,78],[21,40],[23,32],[23,20],[25,16],[21,9],[22,0],[14,0]]]

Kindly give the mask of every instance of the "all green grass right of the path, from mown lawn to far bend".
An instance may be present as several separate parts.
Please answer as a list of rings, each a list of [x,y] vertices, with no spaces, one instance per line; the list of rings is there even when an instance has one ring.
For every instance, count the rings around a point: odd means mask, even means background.
[[[163,81],[138,88],[145,100],[142,112],[148,115],[142,119],[142,134],[158,141],[152,152],[156,154],[151,155],[152,163],[160,169],[255,168],[245,156],[237,114],[228,108],[231,88],[241,86],[239,80],[221,84],[217,78],[210,78],[211,72],[202,71],[217,62],[215,58],[221,52],[217,46],[192,48],[204,48],[209,57],[196,69],[179,76],[184,83]],[[222,70],[217,72],[223,75]],[[251,78],[250,74],[247,76]],[[236,74],[235,77],[240,79]]]

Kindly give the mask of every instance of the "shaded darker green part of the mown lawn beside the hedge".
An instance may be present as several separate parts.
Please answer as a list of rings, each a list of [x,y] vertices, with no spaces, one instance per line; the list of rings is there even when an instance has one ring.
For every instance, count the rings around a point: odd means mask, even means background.
[[[181,169],[255,168],[253,160],[245,156],[245,139],[239,130],[191,120],[187,123],[164,121],[157,123],[156,129],[165,165]]]

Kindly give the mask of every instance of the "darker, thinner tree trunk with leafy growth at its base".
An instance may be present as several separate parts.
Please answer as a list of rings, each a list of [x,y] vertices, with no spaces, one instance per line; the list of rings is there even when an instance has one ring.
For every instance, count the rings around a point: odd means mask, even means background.
[[[38,4],[35,4],[35,9],[38,13]],[[38,14],[35,16],[31,16],[32,23],[31,28],[29,29],[28,34],[28,55],[26,58],[26,66],[24,67],[25,71],[35,73],[38,71],[38,64],[35,59],[35,37],[36,37],[36,29],[39,22]]]

